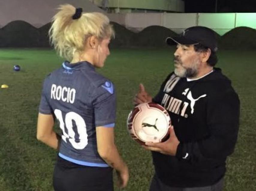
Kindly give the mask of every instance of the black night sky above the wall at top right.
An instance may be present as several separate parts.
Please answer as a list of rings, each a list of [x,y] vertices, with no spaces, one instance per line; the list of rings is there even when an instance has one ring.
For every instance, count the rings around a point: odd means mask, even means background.
[[[184,0],[186,13],[215,13],[216,0]],[[217,0],[218,13],[256,13],[256,0]]]

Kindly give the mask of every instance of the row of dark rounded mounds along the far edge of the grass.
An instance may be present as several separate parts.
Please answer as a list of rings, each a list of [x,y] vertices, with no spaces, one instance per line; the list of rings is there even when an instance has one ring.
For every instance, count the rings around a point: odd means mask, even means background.
[[[165,47],[165,39],[177,36],[172,30],[161,26],[150,26],[134,33],[124,26],[111,22],[115,39],[110,47]],[[48,31],[51,23],[35,28],[25,21],[12,21],[0,29],[0,47],[50,47]],[[256,30],[237,27],[223,36],[216,33],[219,49],[255,50]],[[175,42],[173,42],[175,45]]]

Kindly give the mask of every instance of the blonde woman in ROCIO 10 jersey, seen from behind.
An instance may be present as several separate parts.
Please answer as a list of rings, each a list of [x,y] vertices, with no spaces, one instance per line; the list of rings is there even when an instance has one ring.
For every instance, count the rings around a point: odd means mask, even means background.
[[[44,81],[37,124],[37,139],[58,150],[54,189],[112,191],[112,168],[125,187],[128,167],[114,143],[115,88],[95,71],[110,54],[109,19],[61,5],[49,36],[67,60]],[[55,119],[60,136],[53,130]]]

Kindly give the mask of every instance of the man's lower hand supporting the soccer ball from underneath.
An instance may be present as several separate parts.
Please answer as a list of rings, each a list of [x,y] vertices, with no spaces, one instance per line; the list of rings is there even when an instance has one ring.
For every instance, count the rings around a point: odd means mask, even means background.
[[[175,156],[177,147],[180,141],[174,133],[173,126],[169,128],[170,137],[162,143],[146,142],[146,146],[143,146],[147,150],[160,152],[165,155]]]

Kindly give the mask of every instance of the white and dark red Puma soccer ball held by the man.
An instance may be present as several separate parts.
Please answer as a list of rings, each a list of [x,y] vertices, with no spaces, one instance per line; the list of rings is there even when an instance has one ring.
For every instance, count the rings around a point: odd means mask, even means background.
[[[143,103],[134,107],[127,118],[127,129],[131,137],[140,144],[159,143],[165,140],[171,119],[159,104]]]

